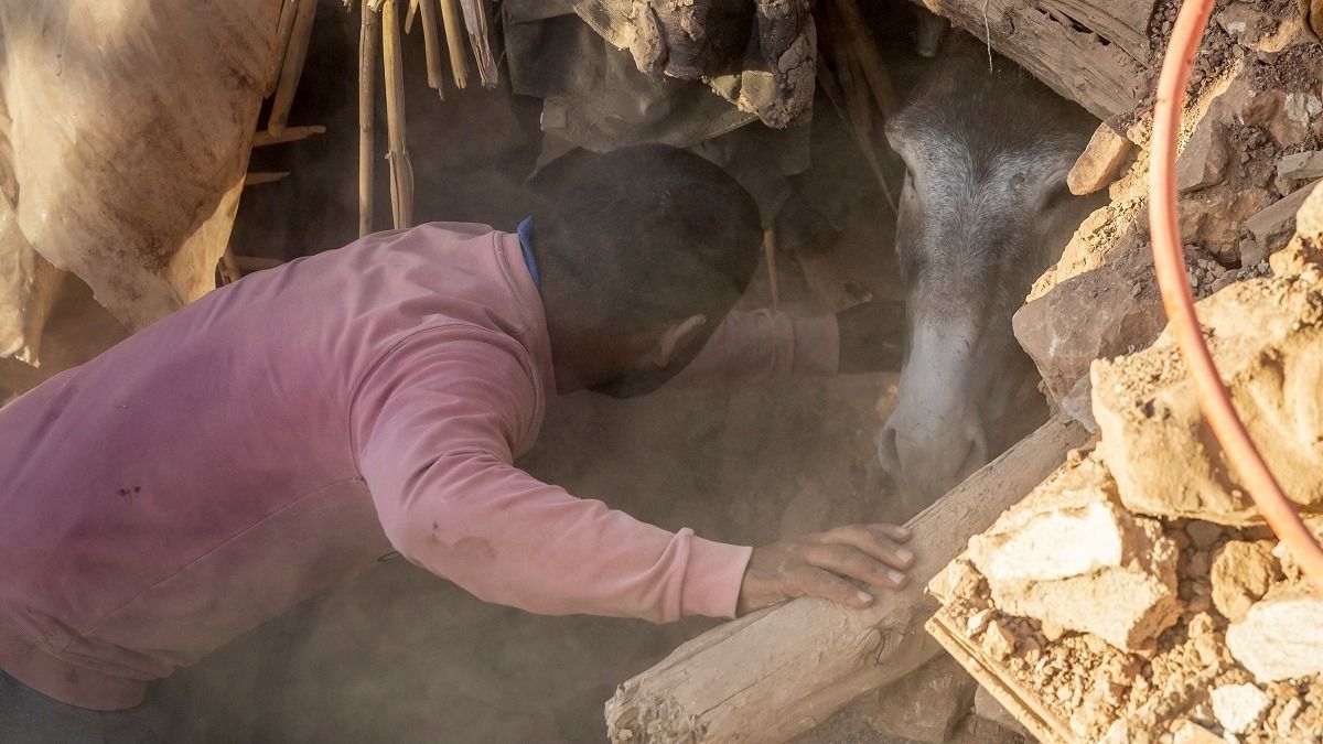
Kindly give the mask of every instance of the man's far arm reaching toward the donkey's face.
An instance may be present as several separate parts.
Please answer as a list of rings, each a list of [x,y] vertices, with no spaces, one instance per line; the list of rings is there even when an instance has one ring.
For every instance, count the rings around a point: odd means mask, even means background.
[[[904,324],[904,306],[886,301],[807,318],[734,310],[668,384],[759,385],[791,376],[900,369]]]

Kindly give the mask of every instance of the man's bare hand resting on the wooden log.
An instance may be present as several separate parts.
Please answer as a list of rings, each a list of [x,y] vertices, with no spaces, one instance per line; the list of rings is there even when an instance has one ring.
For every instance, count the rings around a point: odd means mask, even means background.
[[[885,589],[904,586],[901,571],[914,564],[914,553],[897,543],[909,537],[909,530],[894,524],[851,524],[754,548],[736,614],[795,597],[867,608],[873,594],[855,581]]]

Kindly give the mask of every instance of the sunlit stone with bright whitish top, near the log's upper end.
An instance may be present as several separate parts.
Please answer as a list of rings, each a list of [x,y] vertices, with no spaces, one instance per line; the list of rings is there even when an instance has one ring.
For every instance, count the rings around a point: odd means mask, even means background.
[[[971,537],[966,557],[1002,612],[1039,620],[1049,638],[1060,628],[1139,650],[1180,614],[1175,543],[1121,507],[1093,457],[1062,466]]]

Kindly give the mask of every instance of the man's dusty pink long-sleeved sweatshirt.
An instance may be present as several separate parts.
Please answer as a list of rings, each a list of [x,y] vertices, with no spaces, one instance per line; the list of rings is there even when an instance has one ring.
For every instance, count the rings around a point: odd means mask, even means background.
[[[736,314],[677,381],[831,372],[836,343]],[[483,225],[210,293],[0,409],[0,669],[131,707],[392,549],[537,613],[730,617],[750,548],[513,466],[554,392],[519,241]]]

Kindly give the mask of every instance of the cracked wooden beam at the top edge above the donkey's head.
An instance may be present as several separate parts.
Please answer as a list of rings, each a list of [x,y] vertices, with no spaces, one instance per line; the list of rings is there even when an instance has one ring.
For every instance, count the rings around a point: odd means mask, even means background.
[[[1134,110],[1152,77],[1155,0],[913,0],[951,19],[1099,119]]]

